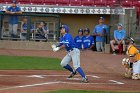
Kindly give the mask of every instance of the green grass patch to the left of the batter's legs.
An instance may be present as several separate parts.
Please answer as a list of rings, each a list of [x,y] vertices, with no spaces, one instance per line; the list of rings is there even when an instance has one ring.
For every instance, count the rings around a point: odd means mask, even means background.
[[[63,70],[60,59],[27,56],[0,56],[0,70]]]

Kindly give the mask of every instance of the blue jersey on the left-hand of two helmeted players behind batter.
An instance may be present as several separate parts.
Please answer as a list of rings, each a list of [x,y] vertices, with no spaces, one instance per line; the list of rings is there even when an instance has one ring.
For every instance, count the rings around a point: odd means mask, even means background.
[[[76,48],[82,49],[83,38],[84,38],[84,36],[76,36],[76,37],[74,38],[74,42],[75,42]]]

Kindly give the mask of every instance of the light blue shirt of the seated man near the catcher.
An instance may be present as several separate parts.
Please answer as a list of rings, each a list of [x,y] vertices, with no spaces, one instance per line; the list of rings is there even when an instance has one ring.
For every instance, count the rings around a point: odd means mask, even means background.
[[[117,40],[121,40],[124,39],[126,36],[126,31],[125,30],[115,30],[114,31],[114,38],[116,38]]]

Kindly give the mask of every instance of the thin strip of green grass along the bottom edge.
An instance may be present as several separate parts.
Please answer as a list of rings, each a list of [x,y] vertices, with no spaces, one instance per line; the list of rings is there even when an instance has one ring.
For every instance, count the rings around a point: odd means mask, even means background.
[[[58,90],[45,93],[139,93],[139,92],[105,92],[105,91],[89,91],[89,90]]]

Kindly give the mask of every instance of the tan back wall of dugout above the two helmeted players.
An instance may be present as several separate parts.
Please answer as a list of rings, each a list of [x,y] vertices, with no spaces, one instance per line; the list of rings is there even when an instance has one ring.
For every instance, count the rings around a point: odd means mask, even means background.
[[[98,24],[99,17],[102,16],[105,18],[105,24],[109,25],[110,15],[76,15],[76,14],[61,14],[60,22],[61,24],[67,24],[70,27],[70,33],[74,36],[77,35],[79,28],[90,29],[92,33],[95,25]]]

